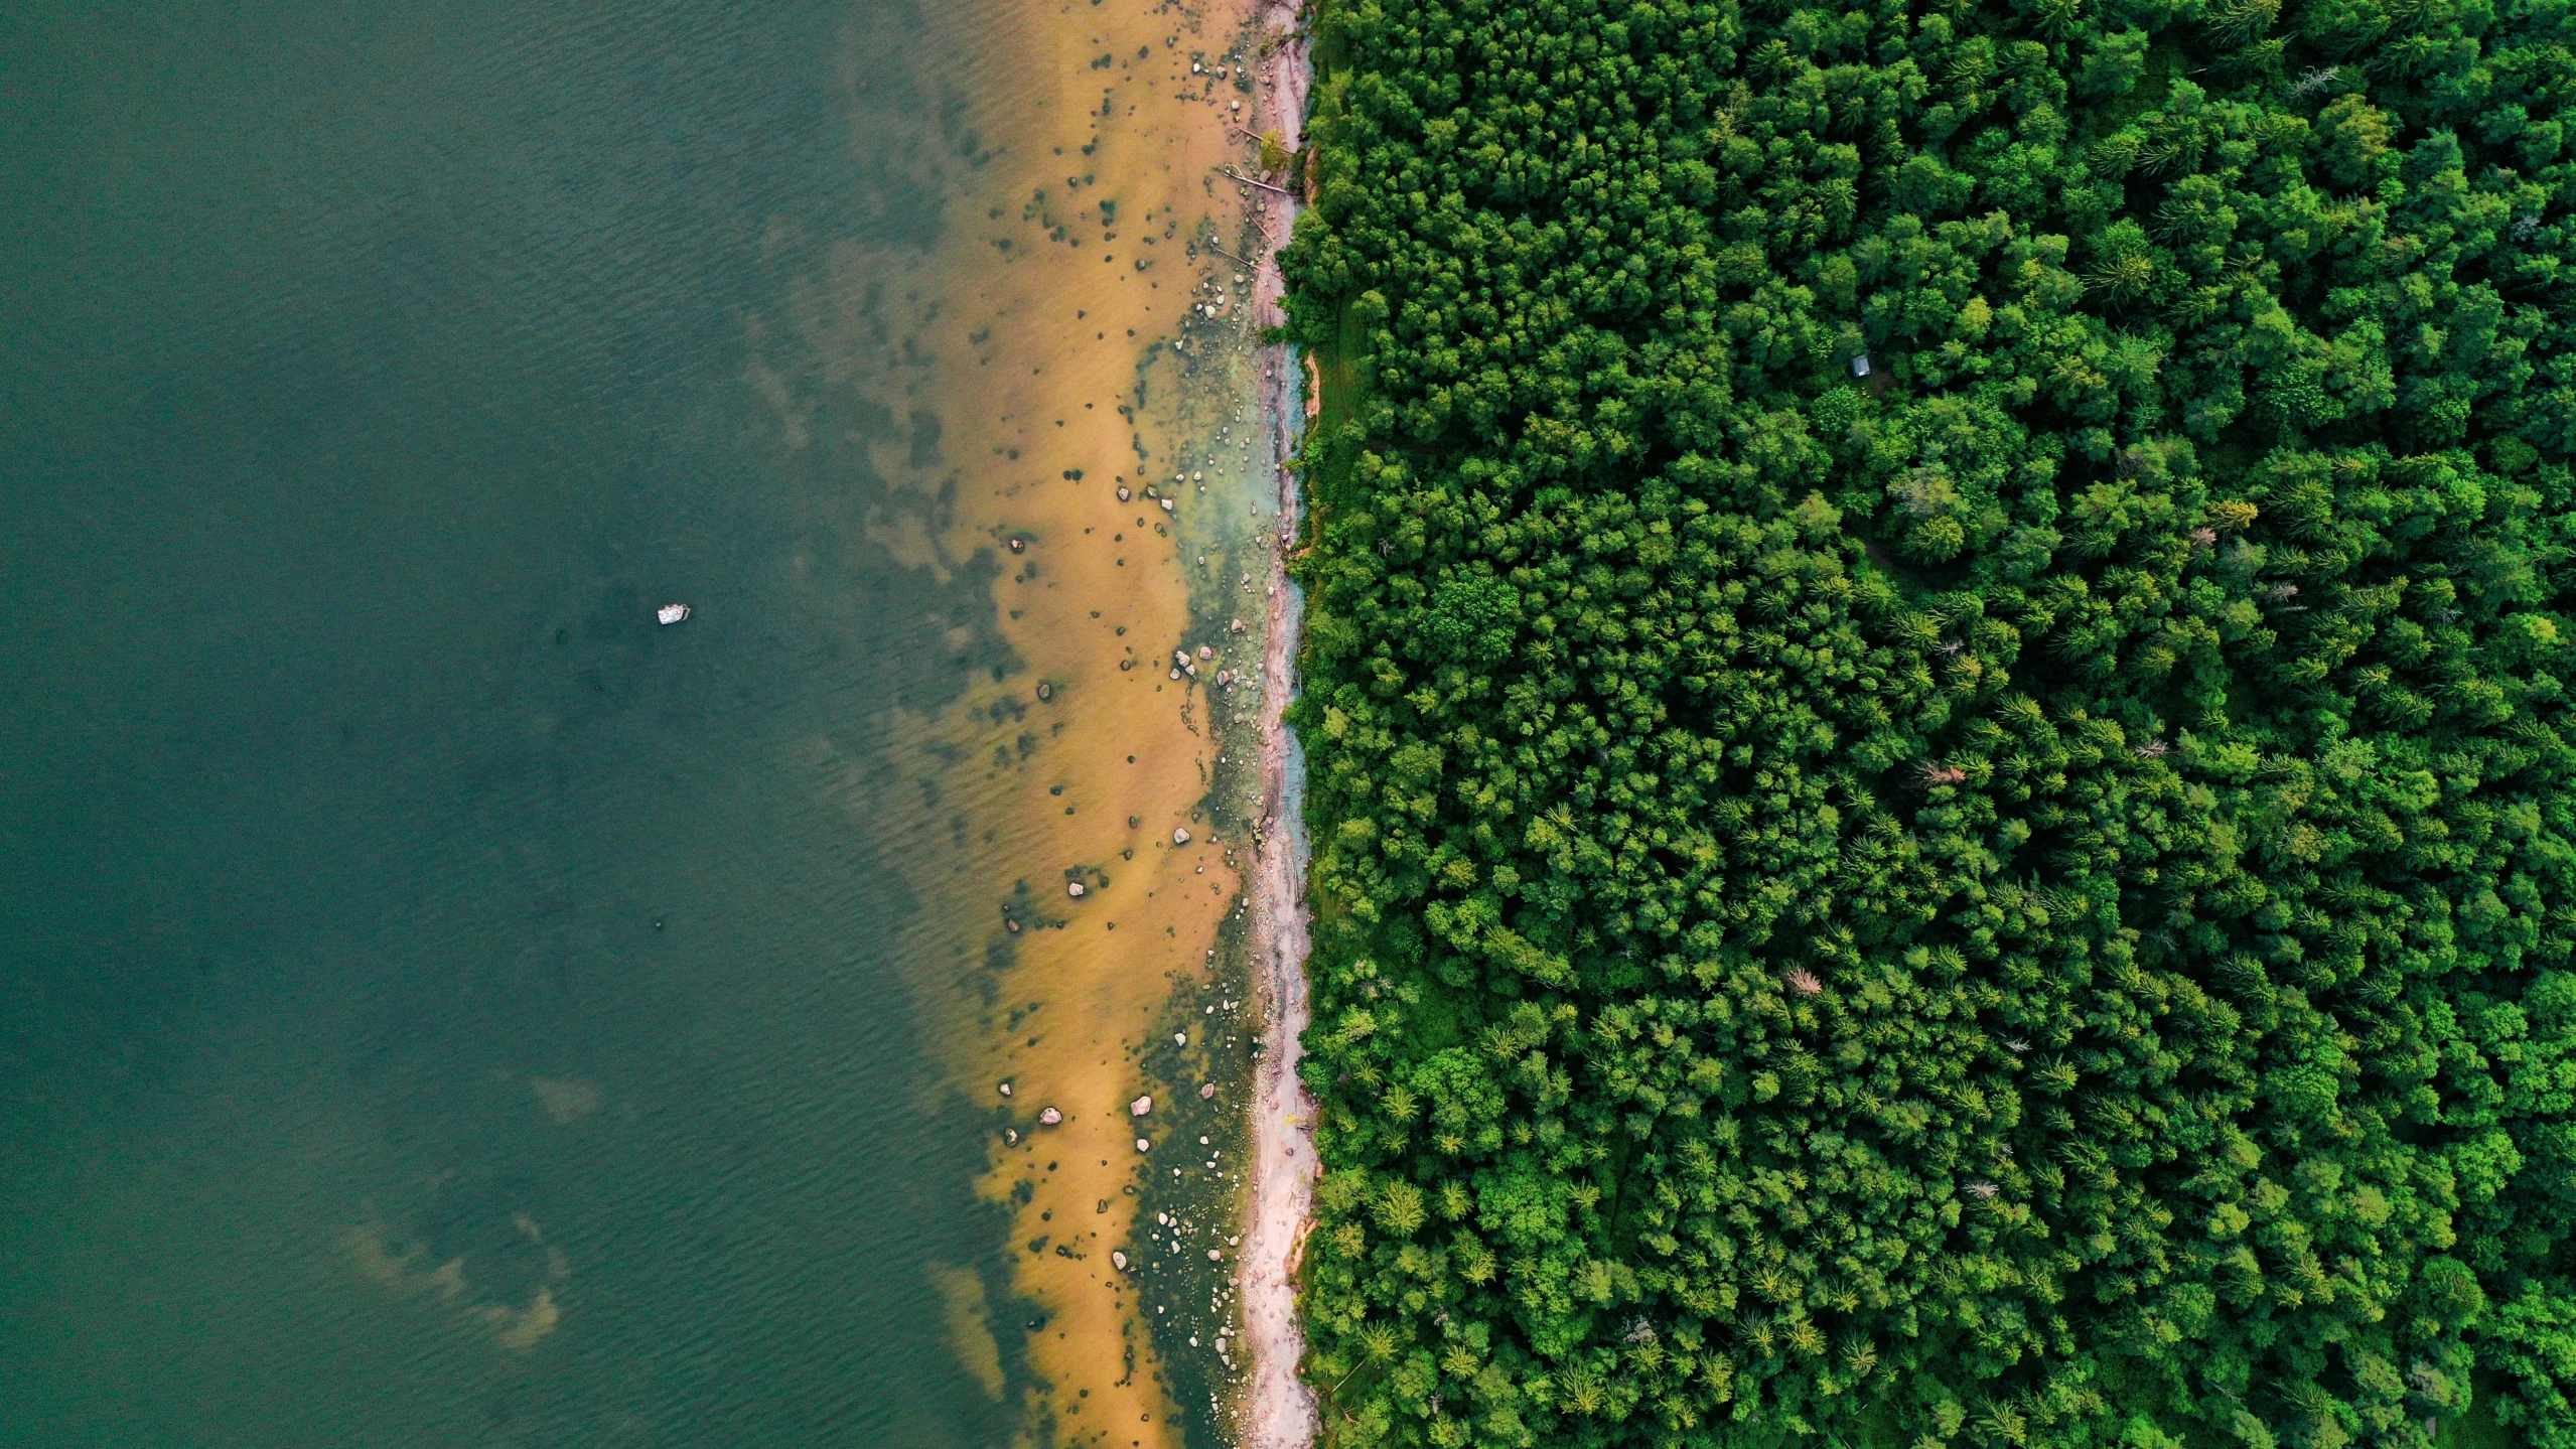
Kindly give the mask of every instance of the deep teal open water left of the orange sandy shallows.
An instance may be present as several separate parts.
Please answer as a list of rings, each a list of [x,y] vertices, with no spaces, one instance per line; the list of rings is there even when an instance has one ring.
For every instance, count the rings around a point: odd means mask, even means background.
[[[938,245],[914,26],[0,10],[0,1446],[1010,1436],[855,808],[987,579],[747,381]]]

